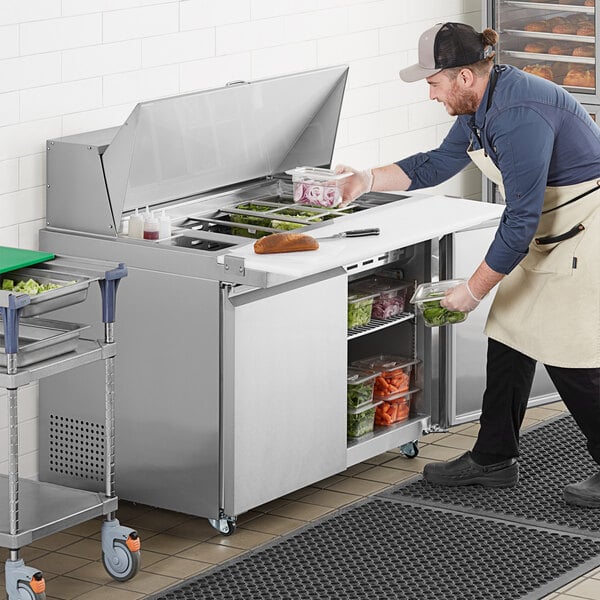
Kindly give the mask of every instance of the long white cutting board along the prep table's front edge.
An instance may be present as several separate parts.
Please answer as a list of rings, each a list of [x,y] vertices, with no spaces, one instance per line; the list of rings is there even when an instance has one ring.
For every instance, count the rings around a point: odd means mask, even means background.
[[[269,273],[269,283],[272,285],[334,267],[352,265],[380,253],[480,225],[498,218],[503,210],[504,206],[500,204],[447,196],[414,195],[333,220],[330,224],[307,232],[319,238],[349,229],[379,227],[381,233],[378,236],[323,240],[319,242],[318,250],[282,254],[256,254],[254,241],[251,241],[228,255],[243,257],[246,269]],[[218,262],[224,262],[225,256],[221,255]]]

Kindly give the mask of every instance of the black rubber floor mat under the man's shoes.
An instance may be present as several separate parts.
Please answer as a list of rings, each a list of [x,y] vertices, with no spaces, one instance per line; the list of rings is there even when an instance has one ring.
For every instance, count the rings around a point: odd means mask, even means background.
[[[419,476],[380,496],[600,537],[600,511],[563,500],[566,484],[598,470],[573,418],[567,415],[526,431],[520,446],[519,483],[514,488],[446,487]]]

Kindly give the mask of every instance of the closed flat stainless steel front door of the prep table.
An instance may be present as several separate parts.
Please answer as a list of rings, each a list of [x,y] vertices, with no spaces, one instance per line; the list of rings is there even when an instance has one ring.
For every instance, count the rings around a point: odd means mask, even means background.
[[[342,269],[225,299],[227,514],[346,468],[346,306]]]

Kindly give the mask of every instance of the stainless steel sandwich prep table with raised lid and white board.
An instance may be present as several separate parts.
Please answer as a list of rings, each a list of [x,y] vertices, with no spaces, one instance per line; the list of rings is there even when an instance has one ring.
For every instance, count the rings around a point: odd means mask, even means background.
[[[376,193],[343,209],[295,204],[285,172],[331,164],[346,77],[339,66],[144,102],[121,127],[48,141],[40,248],[128,265],[116,381],[120,497],[232,533],[237,515],[440,422],[443,334],[408,307],[349,331],[348,284],[382,269],[431,280],[436,240],[502,207]],[[165,211],[169,237],[125,233],[146,206]],[[316,237],[381,233],[312,252],[254,253],[260,235],[295,227]],[[94,307],[73,308],[86,322]],[[348,363],[386,353],[420,361],[410,417],[348,441]],[[95,489],[99,482],[52,462],[57,416],[101,417],[93,383],[102,373],[90,365],[74,375],[68,394],[61,376],[42,383],[51,400],[40,413],[41,477]]]

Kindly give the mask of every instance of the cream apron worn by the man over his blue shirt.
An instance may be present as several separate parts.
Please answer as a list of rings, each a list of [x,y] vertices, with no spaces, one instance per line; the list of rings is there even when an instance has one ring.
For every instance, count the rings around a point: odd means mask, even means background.
[[[485,151],[469,156],[504,197]],[[600,367],[600,180],[546,188],[529,253],[500,282],[485,333],[544,364]]]

